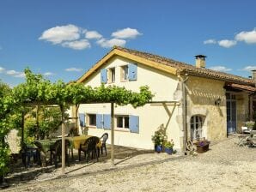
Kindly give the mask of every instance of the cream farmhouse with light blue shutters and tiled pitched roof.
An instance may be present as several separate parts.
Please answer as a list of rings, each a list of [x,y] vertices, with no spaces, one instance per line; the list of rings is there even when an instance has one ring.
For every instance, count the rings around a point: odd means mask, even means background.
[[[253,119],[253,78],[206,69],[203,55],[196,56],[193,66],[115,46],[77,82],[132,91],[147,85],[155,94],[152,102],[137,109],[115,106],[116,145],[153,148],[151,136],[162,128],[174,147],[183,150],[187,140],[222,140]],[[75,111],[72,116],[80,118],[88,135],[110,132],[110,104],[80,105],[79,114]]]

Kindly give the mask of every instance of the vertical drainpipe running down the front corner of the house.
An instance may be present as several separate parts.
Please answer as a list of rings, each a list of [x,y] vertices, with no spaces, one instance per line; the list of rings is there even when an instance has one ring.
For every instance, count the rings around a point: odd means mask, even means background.
[[[181,87],[182,87],[182,127],[183,127],[183,151],[186,154],[186,139],[187,139],[187,128],[186,128],[186,81],[188,80],[188,76],[186,74],[186,79],[181,79]]]

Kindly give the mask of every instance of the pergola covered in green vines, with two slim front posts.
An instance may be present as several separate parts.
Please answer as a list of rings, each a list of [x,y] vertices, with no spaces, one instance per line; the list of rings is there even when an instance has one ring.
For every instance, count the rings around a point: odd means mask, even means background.
[[[114,104],[143,106],[148,103],[153,95],[149,87],[140,87],[140,92],[126,90],[125,87],[85,87],[82,83],[65,84],[63,81],[51,83],[42,75],[34,75],[25,69],[27,81],[14,87],[13,96],[18,105],[58,105],[62,117],[62,173],[65,168],[64,155],[64,111],[66,105],[110,103],[111,104],[111,159],[114,165]]]

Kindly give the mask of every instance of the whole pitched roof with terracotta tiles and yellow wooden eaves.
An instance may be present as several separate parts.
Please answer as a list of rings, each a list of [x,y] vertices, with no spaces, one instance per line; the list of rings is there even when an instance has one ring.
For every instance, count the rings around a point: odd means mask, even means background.
[[[88,72],[86,72],[85,75],[82,75],[82,77],[80,77],[77,81],[84,81],[88,77],[88,75],[92,74],[94,70],[100,68],[101,65],[104,64],[107,59],[109,59],[113,55],[120,55],[123,57],[125,56],[127,58],[131,57],[133,60],[139,60],[137,61],[138,63],[143,62],[144,64],[148,64],[151,67],[162,69],[173,74],[177,74],[178,72],[180,72],[180,74],[203,76],[210,79],[235,82],[244,85],[252,85],[253,87],[255,85],[252,79],[244,78],[237,75],[231,75],[211,69],[196,68],[191,64],[178,62],[167,57],[161,57],[143,51],[131,50],[120,46],[114,46],[113,49],[109,51],[105,57],[102,57],[102,59],[98,63],[96,63],[92,69],[89,69]]]

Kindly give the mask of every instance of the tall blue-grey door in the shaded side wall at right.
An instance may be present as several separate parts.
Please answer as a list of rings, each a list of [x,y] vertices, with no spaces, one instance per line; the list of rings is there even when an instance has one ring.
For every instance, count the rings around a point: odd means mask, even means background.
[[[227,93],[227,129],[228,135],[236,131],[236,102],[235,95]]]

